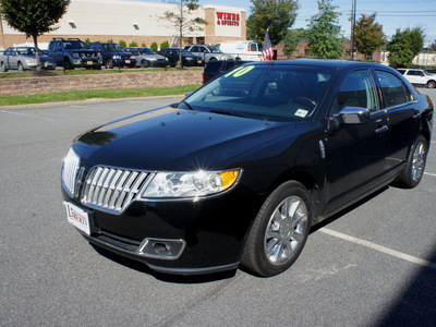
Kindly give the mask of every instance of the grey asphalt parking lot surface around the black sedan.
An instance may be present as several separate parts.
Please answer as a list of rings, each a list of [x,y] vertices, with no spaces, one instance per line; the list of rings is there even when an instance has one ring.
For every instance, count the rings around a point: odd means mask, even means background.
[[[177,100],[0,107],[0,326],[436,326],[435,134],[416,189],[387,187],[315,228],[272,278],[158,275],[87,244],[60,192],[71,141]]]

